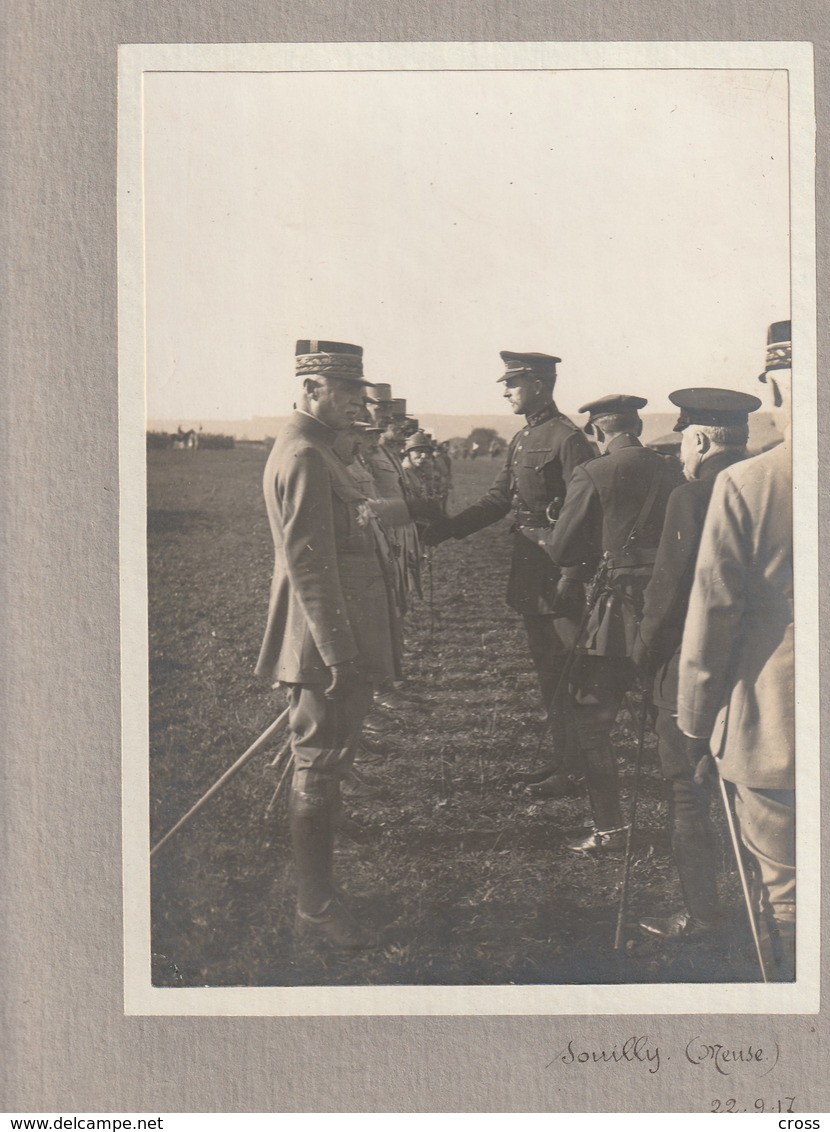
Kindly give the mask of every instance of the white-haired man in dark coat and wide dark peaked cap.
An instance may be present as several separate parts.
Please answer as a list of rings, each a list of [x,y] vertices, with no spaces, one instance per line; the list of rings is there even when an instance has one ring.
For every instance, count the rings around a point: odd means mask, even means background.
[[[698,758],[677,727],[677,671],[694,564],[715,478],[746,458],[748,414],[759,397],[733,389],[677,389],[686,478],[669,496],[654,571],[634,645],[634,663],[653,678],[660,766],[670,783],[669,831],[685,909],[640,923],[647,935],[683,940],[710,932],[718,919],[717,852],[709,821],[708,781],[695,782]]]

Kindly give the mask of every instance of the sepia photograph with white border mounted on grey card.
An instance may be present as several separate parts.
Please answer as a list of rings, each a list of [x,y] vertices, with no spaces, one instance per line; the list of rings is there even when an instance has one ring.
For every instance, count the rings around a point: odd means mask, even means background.
[[[818,1009],[808,48],[131,45],[119,140],[128,1013]]]

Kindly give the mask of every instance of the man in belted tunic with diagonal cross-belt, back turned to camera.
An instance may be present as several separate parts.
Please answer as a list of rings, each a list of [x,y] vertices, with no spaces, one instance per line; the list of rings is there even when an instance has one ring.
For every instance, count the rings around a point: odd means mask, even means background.
[[[625,843],[610,730],[634,680],[631,661],[643,591],[660,541],[676,462],[640,443],[644,397],[610,394],[580,409],[601,455],[574,469],[554,529],[544,539],[559,567],[596,571],[602,585],[573,669],[574,718],[593,829],[567,842],[573,852]]]

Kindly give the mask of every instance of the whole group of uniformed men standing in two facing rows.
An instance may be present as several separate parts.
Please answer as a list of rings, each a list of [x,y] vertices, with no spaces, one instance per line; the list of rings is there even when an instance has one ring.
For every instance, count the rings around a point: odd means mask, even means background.
[[[788,324],[773,326],[762,375],[772,383],[776,408],[787,404],[787,331]],[[258,671],[290,694],[298,931],[344,947],[369,942],[334,886],[333,839],[340,786],[373,694],[383,695],[401,677],[402,611],[407,592],[418,586],[419,539],[438,546],[510,515],[507,603],[524,623],[556,752],[549,765],[529,772],[528,789],[557,797],[583,778],[592,824],[567,848],[601,854],[623,847],[610,730],[640,674],[653,684],[686,904],[671,917],[644,919],[641,928],[676,940],[717,925],[705,783],[707,761],[716,754],[720,773],[736,783],[742,835],[758,861],[758,891],[769,914],[770,946],[776,943],[780,977],[790,977],[788,449],[747,461],[747,475],[738,475],[733,465],[746,458],[748,414],[760,400],[729,389],[681,389],[670,395],[679,409],[681,472],[676,460],[640,441],[644,398],[611,394],[589,402],[580,410],[587,423],[579,428],[554,401],[559,358],[504,351],[502,359],[498,381],[524,427],[490,490],[448,516],[445,506],[407,483],[394,451],[391,389],[366,380],[362,350],[298,343],[302,400],[265,471],[275,572],[258,662]],[[375,451],[361,452],[362,441],[344,439],[373,430],[380,430]],[[750,481],[759,478],[753,505],[760,511],[752,516]],[[726,532],[711,520],[704,523],[708,509],[727,516],[721,516]],[[727,548],[739,560],[733,561]],[[778,633],[764,644],[761,629],[771,619]],[[751,657],[744,659],[743,649]],[[772,707],[778,715],[760,723]]]

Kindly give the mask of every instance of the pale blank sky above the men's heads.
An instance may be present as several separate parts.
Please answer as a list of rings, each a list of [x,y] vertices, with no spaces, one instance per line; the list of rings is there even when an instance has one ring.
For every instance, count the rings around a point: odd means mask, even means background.
[[[294,341],[410,411],[758,392],[789,317],[786,71],[145,76],[147,414],[288,412]]]

